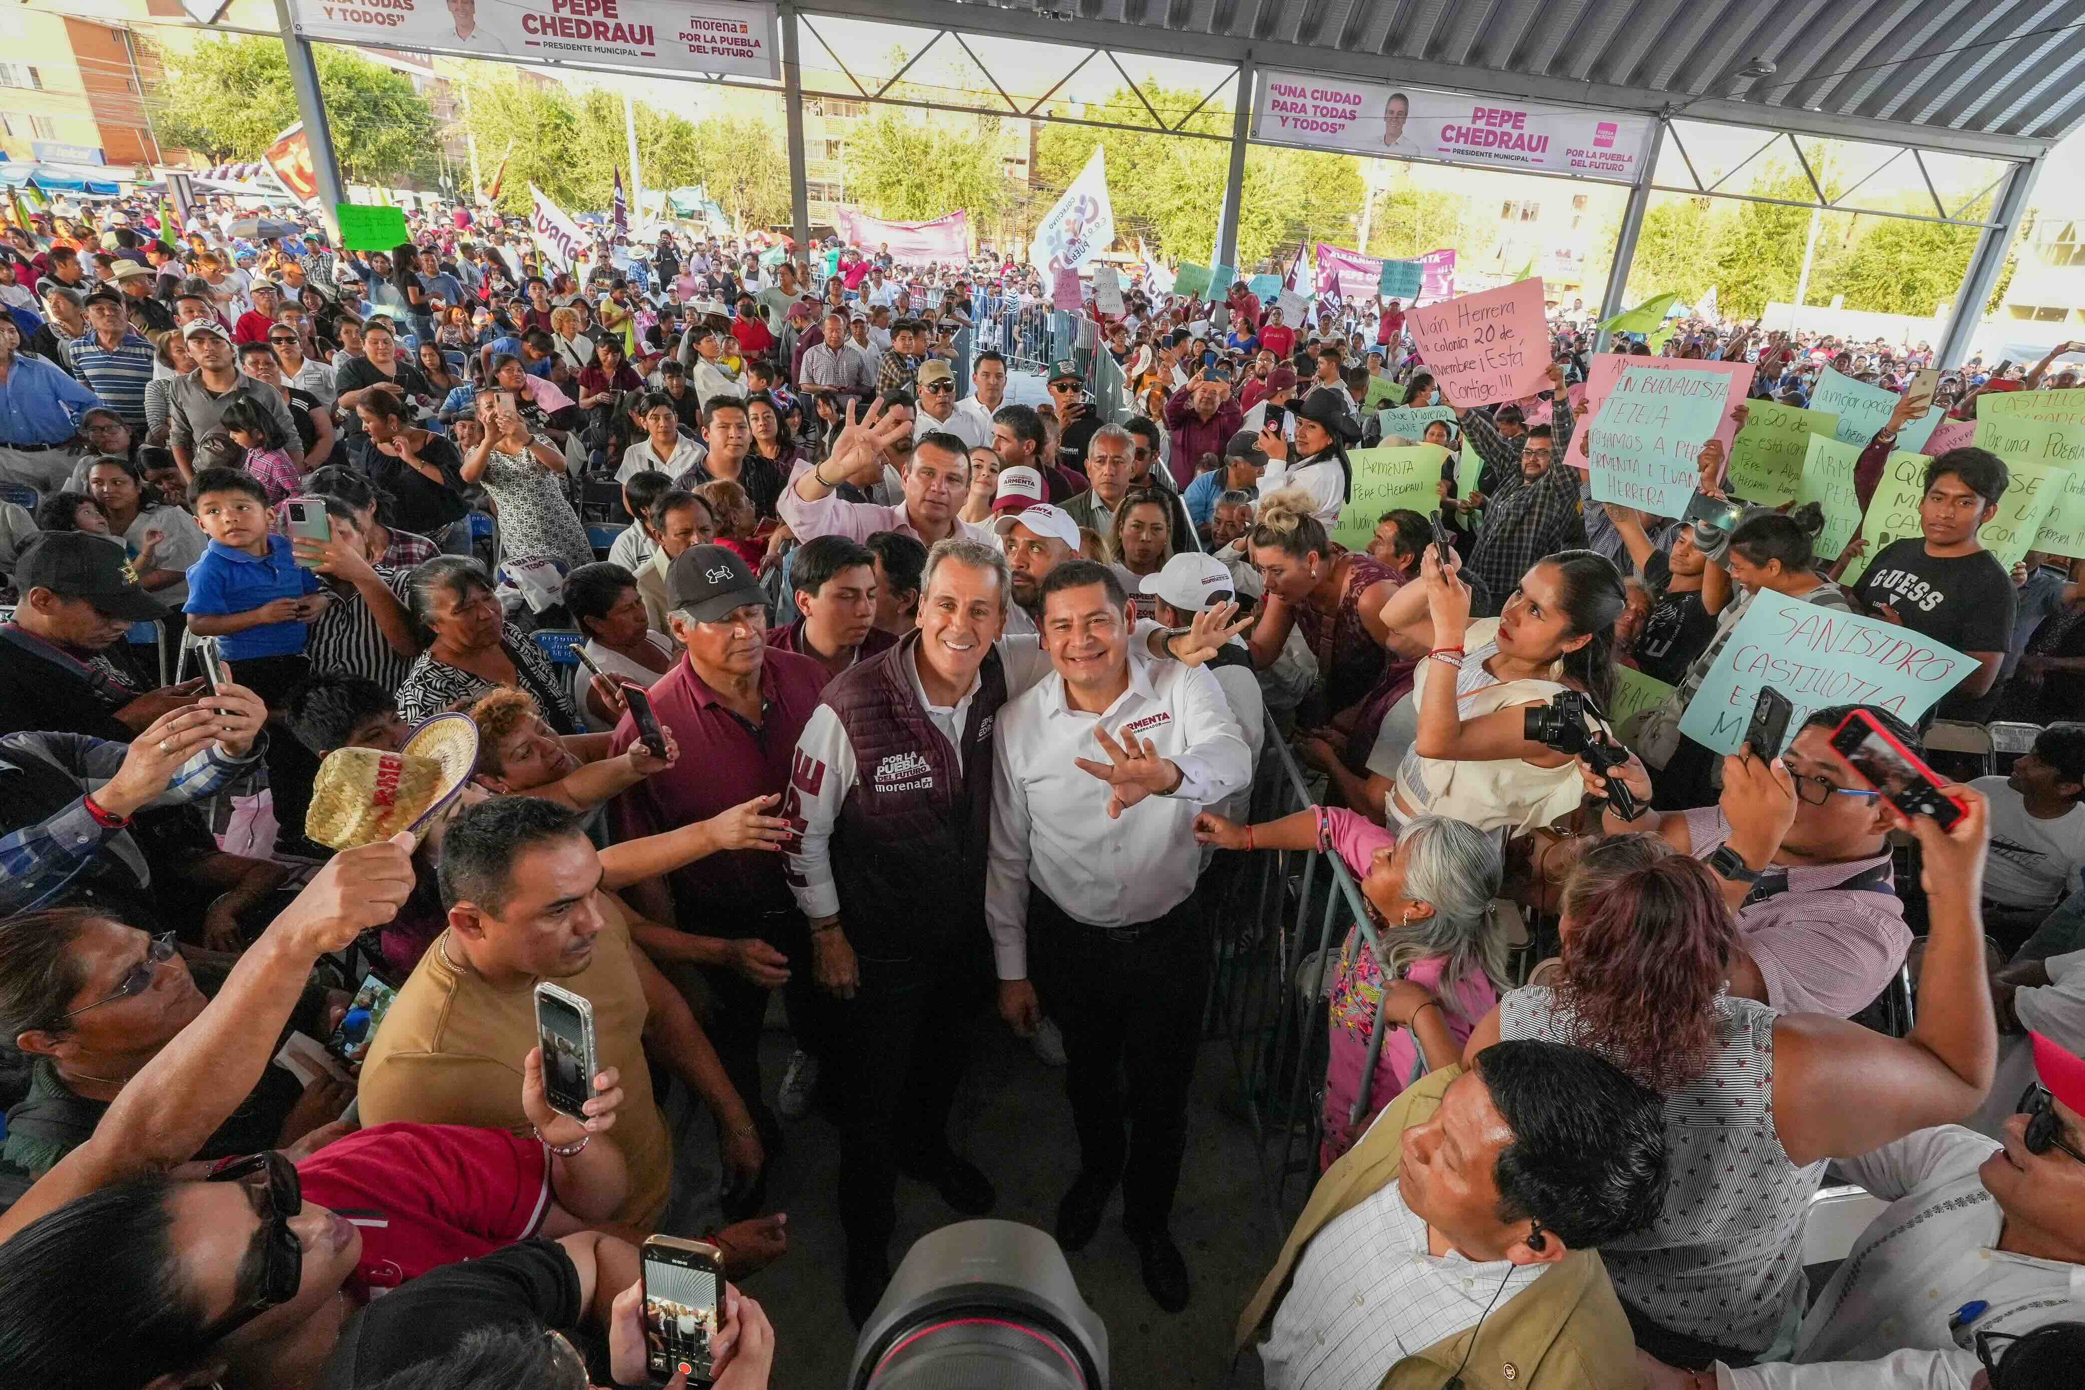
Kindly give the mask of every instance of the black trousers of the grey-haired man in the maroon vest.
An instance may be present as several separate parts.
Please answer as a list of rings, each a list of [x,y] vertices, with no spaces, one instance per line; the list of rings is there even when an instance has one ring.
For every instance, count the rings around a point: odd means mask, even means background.
[[[851,1257],[888,1255],[901,1163],[949,1152],[949,1111],[990,990],[982,940],[907,959],[859,957],[855,998],[834,1004],[840,1082],[840,1227]]]

